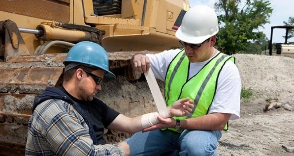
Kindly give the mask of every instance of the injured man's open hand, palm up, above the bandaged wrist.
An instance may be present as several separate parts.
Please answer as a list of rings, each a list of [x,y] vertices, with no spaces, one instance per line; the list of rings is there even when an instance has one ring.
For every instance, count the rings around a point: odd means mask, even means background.
[[[194,108],[193,100],[189,100],[189,98],[180,99],[173,103],[171,106],[167,108],[170,117],[174,116],[186,116],[188,115]]]

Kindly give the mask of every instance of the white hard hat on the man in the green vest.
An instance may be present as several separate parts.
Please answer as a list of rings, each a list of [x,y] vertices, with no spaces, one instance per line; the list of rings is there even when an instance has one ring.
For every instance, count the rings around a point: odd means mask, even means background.
[[[186,12],[176,37],[187,43],[199,44],[217,34],[218,31],[215,11],[207,5],[200,4]]]

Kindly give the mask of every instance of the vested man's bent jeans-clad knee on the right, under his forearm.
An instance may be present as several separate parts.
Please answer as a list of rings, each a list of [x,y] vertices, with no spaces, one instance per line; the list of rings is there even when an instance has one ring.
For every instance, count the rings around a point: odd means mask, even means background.
[[[220,130],[184,130],[179,138],[180,156],[217,156]]]

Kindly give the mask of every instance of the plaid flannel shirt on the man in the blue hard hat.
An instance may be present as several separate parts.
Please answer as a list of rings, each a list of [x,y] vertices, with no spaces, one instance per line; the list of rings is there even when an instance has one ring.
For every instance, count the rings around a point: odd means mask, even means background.
[[[28,125],[26,156],[123,156],[117,144],[94,145],[75,108],[60,99],[39,104]]]

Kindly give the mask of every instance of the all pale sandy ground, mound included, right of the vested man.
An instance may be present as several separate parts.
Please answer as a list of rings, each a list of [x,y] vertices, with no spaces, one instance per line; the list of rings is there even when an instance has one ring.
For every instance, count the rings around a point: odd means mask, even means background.
[[[242,85],[252,88],[249,103],[241,103],[241,118],[229,122],[219,141],[219,156],[294,156],[282,146],[294,147],[294,59],[236,54]],[[276,99],[280,108],[264,111]]]

